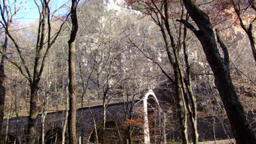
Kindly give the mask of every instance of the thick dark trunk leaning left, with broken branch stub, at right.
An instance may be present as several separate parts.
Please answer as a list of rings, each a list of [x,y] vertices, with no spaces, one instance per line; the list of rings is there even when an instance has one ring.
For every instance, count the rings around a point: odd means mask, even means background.
[[[236,142],[238,144],[256,143],[255,135],[245,119],[243,106],[238,100],[238,96],[234,90],[229,68],[224,65],[220,53],[218,52],[210,18],[195,5],[195,1],[183,0],[183,2],[189,15],[199,27],[197,31],[195,27],[189,25],[189,28],[201,42],[207,61],[214,72],[215,84],[226,109]]]

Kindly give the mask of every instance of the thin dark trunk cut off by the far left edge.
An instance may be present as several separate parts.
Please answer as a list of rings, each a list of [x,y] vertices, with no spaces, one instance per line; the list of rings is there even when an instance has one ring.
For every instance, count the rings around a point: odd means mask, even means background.
[[[3,118],[4,118],[4,111],[5,111],[5,52],[7,49],[7,44],[8,44],[8,38],[7,34],[5,33],[5,42],[3,44],[3,49],[2,49],[2,58],[0,62],[0,137],[3,135],[1,133],[2,127],[3,127]]]

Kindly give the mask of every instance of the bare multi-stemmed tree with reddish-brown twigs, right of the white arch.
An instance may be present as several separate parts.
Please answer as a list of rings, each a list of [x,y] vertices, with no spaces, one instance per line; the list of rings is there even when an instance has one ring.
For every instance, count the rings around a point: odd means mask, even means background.
[[[172,5],[175,5],[172,7],[175,10],[180,10],[181,13],[171,16],[170,15],[170,3]],[[191,89],[191,80],[190,80],[190,65],[189,65],[189,59],[187,54],[187,44],[186,44],[186,38],[187,38],[187,29],[182,29],[181,25],[175,25],[175,23],[172,23],[172,19],[174,17],[185,17],[185,9],[183,8],[183,5],[180,5],[179,1],[130,1],[128,3],[133,7],[133,9],[138,9],[139,11],[142,11],[146,15],[149,15],[152,20],[158,25],[160,28],[162,38],[164,40],[164,48],[165,52],[168,58],[169,65],[171,66],[174,74],[174,79],[170,74],[168,74],[167,70],[163,68],[163,66],[160,65],[160,63],[157,60],[154,60],[154,58],[150,57],[150,54],[146,54],[136,46],[130,39],[129,41],[135,48],[139,49],[140,52],[143,53],[146,58],[151,60],[154,64],[156,64],[161,70],[162,73],[173,82],[176,88],[176,100],[177,100],[177,109],[178,109],[178,115],[179,115],[179,122],[180,127],[182,130],[182,136],[183,136],[183,143],[189,143],[189,138],[187,134],[187,112],[189,114],[189,118],[191,119],[192,128],[193,128],[193,143],[198,143],[198,133],[197,133],[197,108],[196,108],[196,101],[195,96],[193,95],[193,91]],[[137,6],[139,5],[139,6]],[[181,9],[177,9],[177,7],[181,7]],[[188,18],[188,16],[186,16]],[[172,27],[174,25],[174,27]],[[177,33],[174,33],[174,30],[177,30]],[[184,33],[182,35],[181,33]],[[185,66],[187,71],[185,71],[182,64],[183,56],[181,55],[181,50],[183,49],[185,54]],[[187,78],[185,78],[185,74],[187,75]]]

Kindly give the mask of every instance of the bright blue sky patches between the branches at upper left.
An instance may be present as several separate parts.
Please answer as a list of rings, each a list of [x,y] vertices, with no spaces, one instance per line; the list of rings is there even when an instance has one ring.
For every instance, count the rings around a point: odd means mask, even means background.
[[[6,0],[8,1],[8,0]],[[9,0],[9,5],[11,7],[14,7],[13,2],[15,0]],[[36,0],[40,4],[40,0]],[[55,11],[56,9],[59,9],[61,5],[64,3],[67,3],[69,0],[51,0],[51,12]],[[7,2],[8,3],[8,2]],[[39,18],[38,8],[34,2],[34,0],[16,0],[16,7],[20,7],[20,11],[15,16],[15,19],[22,22],[32,22],[36,21]],[[57,14],[63,14],[66,13],[67,7],[62,8],[59,10],[55,15]]]

